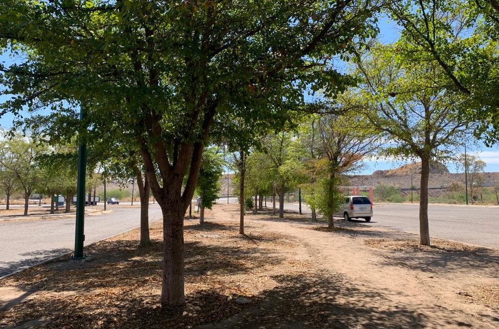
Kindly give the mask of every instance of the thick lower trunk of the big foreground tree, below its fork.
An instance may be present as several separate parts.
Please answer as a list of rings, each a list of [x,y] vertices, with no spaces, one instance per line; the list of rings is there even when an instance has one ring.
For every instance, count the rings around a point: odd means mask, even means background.
[[[158,200],[158,202],[160,202]],[[175,201],[162,200],[163,285],[161,306],[181,306],[184,298],[184,213]],[[178,208],[175,208],[175,207]]]

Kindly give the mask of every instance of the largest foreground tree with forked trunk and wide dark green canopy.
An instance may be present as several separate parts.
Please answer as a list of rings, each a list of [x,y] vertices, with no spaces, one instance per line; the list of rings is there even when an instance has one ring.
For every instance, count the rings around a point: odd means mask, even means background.
[[[347,58],[375,35],[378,8],[350,0],[5,0],[1,45],[33,51],[3,69],[8,92],[20,96],[2,108],[18,113],[33,100],[66,99],[88,112],[81,125],[89,139],[111,126],[135,136],[163,212],[161,304],[183,305],[183,217],[204,146],[223,133],[219,123],[236,116],[282,126],[305,88],[343,90],[353,80],[331,56]],[[55,131],[74,134],[75,125]]]

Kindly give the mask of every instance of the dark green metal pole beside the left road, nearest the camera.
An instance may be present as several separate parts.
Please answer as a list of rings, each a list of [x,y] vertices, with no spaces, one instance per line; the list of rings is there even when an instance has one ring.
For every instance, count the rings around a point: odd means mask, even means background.
[[[85,119],[87,113],[80,106],[80,120]],[[74,254],[73,259],[83,259],[83,227],[85,221],[85,171],[87,166],[87,145],[84,140],[78,145],[78,181],[76,184],[76,232],[74,239]]]

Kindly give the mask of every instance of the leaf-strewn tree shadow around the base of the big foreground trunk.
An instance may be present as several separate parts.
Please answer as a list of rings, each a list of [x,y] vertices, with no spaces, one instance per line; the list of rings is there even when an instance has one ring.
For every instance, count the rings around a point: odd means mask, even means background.
[[[184,311],[189,316],[183,316],[159,308],[162,250],[158,241],[142,248],[137,240],[108,240],[87,249],[89,257],[83,261],[62,257],[26,270],[10,278],[9,285],[39,293],[10,303],[0,319],[21,327],[41,321],[48,328],[184,328],[187,323],[223,319],[242,308],[231,300],[238,296],[217,290],[217,276],[240,276],[283,260],[261,247],[186,242]],[[205,277],[210,281],[205,283]],[[4,325],[0,321],[0,327]]]

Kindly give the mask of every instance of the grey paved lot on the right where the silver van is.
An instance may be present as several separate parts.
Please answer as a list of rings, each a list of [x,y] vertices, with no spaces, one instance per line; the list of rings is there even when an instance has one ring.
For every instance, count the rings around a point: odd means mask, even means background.
[[[298,211],[298,204],[285,203],[284,209]],[[302,212],[310,210],[302,205]],[[432,237],[499,249],[498,206],[429,204],[428,216]],[[419,204],[375,204],[371,222],[352,221],[419,234]]]

